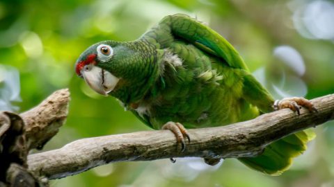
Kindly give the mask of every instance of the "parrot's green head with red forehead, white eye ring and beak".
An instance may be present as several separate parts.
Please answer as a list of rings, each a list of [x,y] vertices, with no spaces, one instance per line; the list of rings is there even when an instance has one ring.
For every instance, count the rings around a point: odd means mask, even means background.
[[[156,61],[154,45],[109,40],[88,47],[79,56],[75,71],[97,93],[131,103],[143,98],[157,80]]]

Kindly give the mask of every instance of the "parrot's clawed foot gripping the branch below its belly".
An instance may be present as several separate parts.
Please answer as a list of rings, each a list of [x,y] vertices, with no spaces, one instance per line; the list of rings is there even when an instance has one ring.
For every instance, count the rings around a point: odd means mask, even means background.
[[[186,128],[184,128],[181,123],[174,123],[173,121],[169,121],[164,126],[162,126],[161,129],[170,130],[171,132],[173,132],[173,134],[175,134],[176,136],[177,143],[181,143],[182,145],[181,152],[184,152],[184,150],[186,149],[186,142],[184,141],[184,139],[188,139],[188,142],[190,143],[190,137],[188,132],[186,132]],[[170,161],[172,161],[173,163],[175,162],[173,158],[171,158]]]

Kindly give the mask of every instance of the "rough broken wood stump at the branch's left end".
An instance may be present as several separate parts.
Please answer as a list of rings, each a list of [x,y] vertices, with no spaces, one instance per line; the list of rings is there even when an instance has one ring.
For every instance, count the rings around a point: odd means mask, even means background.
[[[23,114],[0,112],[0,186],[48,185],[27,170],[26,159],[29,150],[42,148],[58,132],[69,100],[68,89],[61,89]]]

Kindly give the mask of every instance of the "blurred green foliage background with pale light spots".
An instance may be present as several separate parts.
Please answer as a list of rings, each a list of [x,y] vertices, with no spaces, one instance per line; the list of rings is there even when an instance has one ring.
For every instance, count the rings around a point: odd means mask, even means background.
[[[45,150],[91,136],[149,130],[113,98],[95,94],[74,62],[95,42],[140,37],[162,17],[186,13],[209,24],[241,53],[276,98],[334,93],[334,1],[0,1],[0,109],[23,112],[70,88],[67,123]],[[111,163],[51,186],[334,186],[334,124],[279,177],[235,159]]]

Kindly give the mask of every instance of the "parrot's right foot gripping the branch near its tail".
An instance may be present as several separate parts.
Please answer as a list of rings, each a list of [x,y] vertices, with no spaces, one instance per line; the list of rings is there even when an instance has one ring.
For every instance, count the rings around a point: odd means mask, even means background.
[[[289,108],[292,109],[293,112],[297,112],[298,115],[301,114],[301,107],[307,108],[310,112],[318,112],[317,108],[313,106],[310,100],[305,98],[283,98],[282,100],[275,100],[275,103],[273,103],[273,109],[275,110]]]

